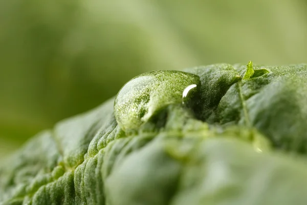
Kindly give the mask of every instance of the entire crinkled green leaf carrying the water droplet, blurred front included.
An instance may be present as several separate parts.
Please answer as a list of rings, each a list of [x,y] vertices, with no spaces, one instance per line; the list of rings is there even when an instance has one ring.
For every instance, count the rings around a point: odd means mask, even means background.
[[[0,203],[305,204],[306,79],[251,63],[137,76],[2,161]]]

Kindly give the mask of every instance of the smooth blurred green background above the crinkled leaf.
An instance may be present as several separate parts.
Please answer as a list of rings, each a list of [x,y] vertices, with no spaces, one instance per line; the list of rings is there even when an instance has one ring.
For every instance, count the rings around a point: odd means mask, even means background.
[[[142,72],[306,56],[304,0],[0,0],[0,156]]]

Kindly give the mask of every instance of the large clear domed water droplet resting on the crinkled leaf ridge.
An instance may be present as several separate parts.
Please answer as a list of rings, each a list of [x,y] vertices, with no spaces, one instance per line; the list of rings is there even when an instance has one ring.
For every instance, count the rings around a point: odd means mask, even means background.
[[[168,105],[190,99],[193,95],[189,91],[197,85],[200,85],[198,75],[182,71],[151,71],[131,79],[115,98],[118,125],[125,132],[138,130]]]

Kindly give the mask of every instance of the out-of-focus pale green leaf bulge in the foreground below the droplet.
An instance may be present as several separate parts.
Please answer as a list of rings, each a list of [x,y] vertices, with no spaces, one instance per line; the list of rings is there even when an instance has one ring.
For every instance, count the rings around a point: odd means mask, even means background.
[[[306,169],[302,161],[257,153],[237,139],[172,136],[127,156],[105,187],[108,204],[118,205],[304,204]]]

